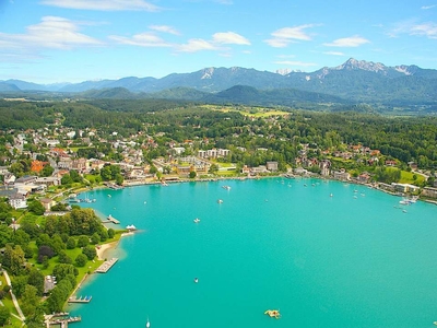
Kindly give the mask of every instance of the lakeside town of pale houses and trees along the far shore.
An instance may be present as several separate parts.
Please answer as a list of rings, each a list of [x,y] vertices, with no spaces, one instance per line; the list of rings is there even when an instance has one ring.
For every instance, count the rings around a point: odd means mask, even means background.
[[[265,120],[270,125],[279,126],[274,117],[265,118]],[[14,209],[26,208],[26,198],[34,192],[44,195],[47,190],[71,187],[70,178],[73,175],[81,177],[75,181],[87,187],[97,187],[102,183],[109,187],[122,187],[187,179],[311,175],[371,184],[371,186],[389,192],[422,195],[429,199],[437,198],[437,181],[430,186],[385,184],[378,181],[375,175],[367,171],[351,173],[345,167],[339,167],[338,164],[335,167],[333,166],[333,161],[385,167],[394,167],[399,164],[399,161],[386,159],[379,150],[373,150],[362,144],[341,144],[336,149],[319,149],[308,143],[300,143],[298,154],[292,165],[283,165],[277,161],[265,161],[258,166],[250,166],[231,163],[232,151],[217,148],[213,139],[176,142],[168,134],[166,137],[169,141],[160,144],[157,138],[164,137],[164,132],[155,136],[139,132],[137,136],[123,138],[117,131],[107,134],[97,129],[66,128],[62,127],[60,119],[44,129],[9,130],[5,131],[5,136],[11,137],[5,139],[8,142],[4,144],[9,155],[3,155],[1,159],[3,166],[0,166],[0,176],[3,187],[0,189],[0,196],[9,198],[9,202]],[[238,134],[236,133],[233,138],[238,138]],[[265,136],[263,138],[273,137]],[[90,149],[95,144],[107,152],[97,152],[94,154],[95,156],[88,157],[81,155],[81,149]],[[146,156],[158,147],[164,147],[165,155]],[[243,147],[235,147],[234,150],[240,153],[246,152]],[[109,152],[111,156],[109,156]],[[269,149],[258,148],[257,152],[269,152]],[[317,153],[320,155],[316,156]],[[25,165],[28,167],[23,167]],[[410,162],[408,165],[410,171],[421,174],[417,172],[416,163]],[[108,167],[117,167],[116,174],[105,176],[103,173]],[[51,204],[56,203],[55,200],[50,201],[48,197],[40,197],[47,211],[50,210]]]

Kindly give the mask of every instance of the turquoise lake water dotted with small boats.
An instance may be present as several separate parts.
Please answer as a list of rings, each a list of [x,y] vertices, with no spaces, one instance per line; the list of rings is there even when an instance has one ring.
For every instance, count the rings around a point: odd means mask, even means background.
[[[108,273],[92,274],[79,290],[91,303],[68,306],[82,316],[76,328],[145,327],[147,317],[151,328],[414,328],[437,320],[436,206],[400,206],[401,198],[364,186],[300,178],[84,196],[97,200],[86,206],[139,232],[107,254],[119,258]],[[281,319],[267,309],[280,309]]]

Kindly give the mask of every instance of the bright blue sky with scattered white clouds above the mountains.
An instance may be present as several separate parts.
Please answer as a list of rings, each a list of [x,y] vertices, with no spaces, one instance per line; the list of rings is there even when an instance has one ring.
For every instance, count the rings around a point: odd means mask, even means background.
[[[437,0],[0,0],[0,81],[314,72],[349,58],[437,69]]]

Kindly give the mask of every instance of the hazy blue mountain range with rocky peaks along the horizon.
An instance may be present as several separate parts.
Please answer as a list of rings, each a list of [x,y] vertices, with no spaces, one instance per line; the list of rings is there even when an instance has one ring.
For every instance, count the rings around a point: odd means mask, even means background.
[[[238,86],[238,87],[236,87]],[[241,101],[258,103],[368,102],[409,105],[437,102],[437,70],[417,66],[387,67],[380,62],[349,59],[315,72],[268,72],[239,67],[205,68],[173,73],[162,79],[123,78],[81,83],[36,84],[0,81],[1,93],[56,92],[94,98],[180,98],[190,101]]]

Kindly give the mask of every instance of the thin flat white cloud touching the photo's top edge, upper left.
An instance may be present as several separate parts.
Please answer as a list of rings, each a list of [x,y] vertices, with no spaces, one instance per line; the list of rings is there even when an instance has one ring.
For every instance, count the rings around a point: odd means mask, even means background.
[[[122,11],[158,11],[160,8],[144,0],[42,0],[40,3],[68,9]]]

